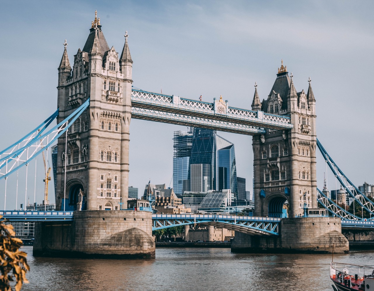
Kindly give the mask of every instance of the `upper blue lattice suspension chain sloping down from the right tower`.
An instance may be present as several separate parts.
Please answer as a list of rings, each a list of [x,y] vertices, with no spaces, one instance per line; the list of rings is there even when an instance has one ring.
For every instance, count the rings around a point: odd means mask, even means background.
[[[355,185],[353,185],[353,183],[347,178],[347,176],[344,175],[344,173],[339,169],[336,163],[331,159],[331,157],[329,156],[329,154],[327,153],[327,151],[325,150],[325,148],[322,146],[322,144],[319,142],[318,139],[317,139],[317,146],[322,156],[324,157],[327,165],[334,173],[335,178],[338,179],[338,181],[344,187],[344,189],[347,191],[350,197],[353,197],[354,201],[359,203],[359,205],[361,205],[363,209],[367,210],[369,213],[374,215],[374,203],[371,200],[369,200],[364,194],[362,194],[361,191],[358,190],[358,188]]]

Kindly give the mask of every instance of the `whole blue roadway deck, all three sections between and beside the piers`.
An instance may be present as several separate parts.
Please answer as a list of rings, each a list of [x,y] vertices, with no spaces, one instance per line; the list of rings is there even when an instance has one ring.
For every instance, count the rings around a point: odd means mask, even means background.
[[[124,210],[126,211],[126,210]],[[0,215],[9,221],[71,221],[73,211],[18,211],[0,210]],[[235,215],[207,215],[207,214],[153,214],[152,229],[169,228],[178,225],[208,224],[220,228],[232,229],[249,234],[278,235],[281,218],[235,216]],[[374,228],[373,220],[341,220],[342,228]]]

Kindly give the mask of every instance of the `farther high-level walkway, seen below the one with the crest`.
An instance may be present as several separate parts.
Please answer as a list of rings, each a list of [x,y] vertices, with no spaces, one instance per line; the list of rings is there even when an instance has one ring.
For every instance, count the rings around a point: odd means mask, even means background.
[[[131,117],[135,119],[143,119],[164,123],[172,123],[184,126],[198,126],[202,128],[227,131],[227,132],[240,132],[246,135],[257,135],[265,134],[266,130],[250,125],[240,125],[231,122],[225,122],[220,120],[200,118],[196,116],[181,115],[172,112],[162,112],[156,110],[150,110],[140,107],[131,108]]]

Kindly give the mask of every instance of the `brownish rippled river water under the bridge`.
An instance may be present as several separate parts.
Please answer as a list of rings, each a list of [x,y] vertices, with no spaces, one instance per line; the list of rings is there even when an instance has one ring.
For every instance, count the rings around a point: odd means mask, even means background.
[[[331,254],[233,254],[230,248],[156,248],[154,260],[32,256],[26,290],[331,291]],[[335,262],[372,266],[374,251],[335,254]]]

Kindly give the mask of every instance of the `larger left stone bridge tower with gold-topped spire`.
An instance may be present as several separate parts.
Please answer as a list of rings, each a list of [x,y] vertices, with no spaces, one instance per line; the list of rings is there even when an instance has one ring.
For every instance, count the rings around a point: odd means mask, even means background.
[[[58,122],[87,98],[90,104],[69,128],[66,152],[65,134],[58,139],[56,207],[63,209],[65,203],[65,210],[119,210],[128,198],[132,60],[127,32],[119,56],[109,48],[95,12],[73,68],[66,41],[64,46],[58,67]]]

